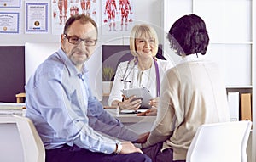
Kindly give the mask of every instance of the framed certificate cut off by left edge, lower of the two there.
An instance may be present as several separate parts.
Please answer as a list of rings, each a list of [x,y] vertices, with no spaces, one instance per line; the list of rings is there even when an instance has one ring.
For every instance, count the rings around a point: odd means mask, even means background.
[[[0,12],[0,34],[18,34],[20,32],[20,13]]]

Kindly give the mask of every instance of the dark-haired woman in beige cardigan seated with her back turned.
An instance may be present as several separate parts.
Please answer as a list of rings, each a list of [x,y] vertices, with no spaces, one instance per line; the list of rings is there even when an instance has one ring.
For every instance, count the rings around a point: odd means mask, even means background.
[[[157,117],[142,145],[154,162],[185,161],[199,126],[230,120],[218,66],[203,57],[209,43],[205,22],[184,15],[172,25],[168,39],[183,60],[163,78]]]

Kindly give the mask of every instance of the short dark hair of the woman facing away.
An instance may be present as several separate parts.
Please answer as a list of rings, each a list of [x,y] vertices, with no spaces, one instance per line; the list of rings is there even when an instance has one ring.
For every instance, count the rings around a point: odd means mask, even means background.
[[[209,36],[206,24],[195,14],[184,15],[178,19],[171,27],[168,39],[178,55],[207,53]]]

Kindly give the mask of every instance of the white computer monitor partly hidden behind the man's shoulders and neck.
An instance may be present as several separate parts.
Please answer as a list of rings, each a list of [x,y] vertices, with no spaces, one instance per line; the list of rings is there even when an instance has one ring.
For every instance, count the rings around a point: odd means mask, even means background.
[[[61,47],[60,42],[26,42],[25,43],[25,75],[29,77],[49,55]],[[102,47],[96,47],[95,53],[85,63],[89,70],[89,81],[92,93],[102,100]]]

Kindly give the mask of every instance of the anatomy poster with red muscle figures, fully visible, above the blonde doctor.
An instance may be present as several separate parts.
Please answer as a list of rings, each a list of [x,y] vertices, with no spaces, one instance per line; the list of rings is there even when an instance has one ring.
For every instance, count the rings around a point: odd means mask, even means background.
[[[133,11],[132,0],[102,0],[102,34],[130,33]]]

